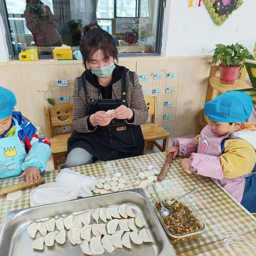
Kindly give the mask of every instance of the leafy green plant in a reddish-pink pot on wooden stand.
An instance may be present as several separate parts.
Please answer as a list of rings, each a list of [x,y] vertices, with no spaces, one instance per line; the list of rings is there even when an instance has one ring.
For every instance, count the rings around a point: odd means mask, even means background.
[[[219,62],[220,82],[233,84],[237,77],[238,71],[244,66],[244,60],[254,60],[253,55],[242,44],[217,44],[210,65]]]

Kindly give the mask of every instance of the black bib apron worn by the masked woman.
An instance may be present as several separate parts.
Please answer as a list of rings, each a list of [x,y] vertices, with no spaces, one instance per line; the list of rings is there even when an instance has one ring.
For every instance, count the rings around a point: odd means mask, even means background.
[[[85,94],[88,95],[85,73],[78,77],[78,92],[79,84],[80,87],[82,84]],[[122,70],[121,95],[121,99],[90,99],[89,115],[97,111],[107,111],[126,105],[126,72],[124,68]],[[94,132],[74,131],[68,139],[67,154],[73,148],[83,148],[93,156],[103,161],[109,161],[142,155],[144,140],[140,125],[127,124],[125,120],[113,119],[107,126],[98,125]]]

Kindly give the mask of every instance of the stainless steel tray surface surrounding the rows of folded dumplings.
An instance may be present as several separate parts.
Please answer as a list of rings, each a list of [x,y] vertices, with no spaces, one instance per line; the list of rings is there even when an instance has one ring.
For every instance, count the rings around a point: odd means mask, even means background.
[[[154,212],[143,189],[131,189],[116,193],[92,196],[69,202],[49,204],[6,213],[0,233],[0,255],[2,256],[52,256],[76,255],[84,256],[79,245],[71,245],[66,240],[63,245],[55,243],[52,247],[44,246],[43,251],[31,249],[33,239],[27,233],[27,227],[34,221],[43,221],[52,217],[74,216],[98,207],[107,207],[121,204],[134,207],[134,213],[142,218],[149,236],[154,243],[132,244],[132,250],[116,249],[113,253],[103,255],[147,255],[172,256],[175,255],[172,245]],[[37,234],[36,238],[39,237]]]

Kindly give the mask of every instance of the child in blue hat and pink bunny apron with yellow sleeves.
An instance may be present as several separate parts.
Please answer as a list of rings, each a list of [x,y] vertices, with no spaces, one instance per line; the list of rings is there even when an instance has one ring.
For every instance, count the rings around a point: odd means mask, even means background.
[[[256,131],[241,139],[241,125],[252,113],[250,95],[230,91],[206,102],[211,123],[194,139],[177,139],[167,153],[191,156],[180,160],[183,170],[217,179],[248,211],[256,212]],[[239,135],[240,134],[240,135]]]

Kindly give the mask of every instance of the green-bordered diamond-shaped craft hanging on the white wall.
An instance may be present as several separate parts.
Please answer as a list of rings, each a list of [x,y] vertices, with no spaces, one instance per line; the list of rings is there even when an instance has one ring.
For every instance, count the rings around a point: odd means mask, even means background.
[[[244,2],[243,0],[203,0],[214,23],[221,26]]]

